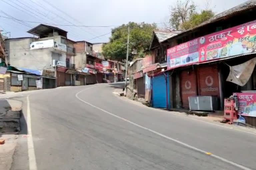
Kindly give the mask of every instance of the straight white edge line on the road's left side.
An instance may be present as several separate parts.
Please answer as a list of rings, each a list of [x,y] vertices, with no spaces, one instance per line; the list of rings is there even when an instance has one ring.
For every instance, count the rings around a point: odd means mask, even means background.
[[[28,96],[27,96],[27,129],[28,129],[27,141],[28,141],[29,170],[37,170],[36,156],[35,156],[33,136],[32,136],[32,130],[31,130],[30,103],[29,103]]]

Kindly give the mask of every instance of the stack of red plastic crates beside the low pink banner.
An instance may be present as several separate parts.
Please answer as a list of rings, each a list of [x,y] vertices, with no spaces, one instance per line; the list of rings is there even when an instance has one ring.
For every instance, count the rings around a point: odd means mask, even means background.
[[[224,99],[224,118],[231,124],[237,119],[237,112],[234,108],[234,99]]]

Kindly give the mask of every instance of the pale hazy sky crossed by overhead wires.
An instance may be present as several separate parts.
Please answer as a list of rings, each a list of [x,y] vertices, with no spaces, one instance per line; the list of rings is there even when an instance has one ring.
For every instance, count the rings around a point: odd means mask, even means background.
[[[0,0],[0,30],[11,38],[33,37],[26,33],[39,23],[58,25],[119,26],[128,22],[166,23],[170,5],[177,0]],[[247,0],[212,0],[215,14]],[[206,0],[193,0],[200,11]],[[59,10],[58,10],[58,9]],[[1,17],[2,16],[2,17]],[[39,23],[28,23],[23,21]],[[157,24],[164,27],[163,24]],[[108,42],[115,27],[56,26],[68,32],[73,41]],[[108,34],[109,33],[109,34]],[[104,35],[106,34],[106,35]],[[104,36],[101,36],[104,35]],[[101,36],[101,37],[99,37]],[[98,38],[97,38],[98,37]]]

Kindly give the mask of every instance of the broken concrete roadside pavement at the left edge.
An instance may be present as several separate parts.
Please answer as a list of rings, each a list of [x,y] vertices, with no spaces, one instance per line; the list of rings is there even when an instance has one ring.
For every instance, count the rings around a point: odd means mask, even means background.
[[[11,99],[0,100],[0,169],[9,170],[20,130],[22,102]]]

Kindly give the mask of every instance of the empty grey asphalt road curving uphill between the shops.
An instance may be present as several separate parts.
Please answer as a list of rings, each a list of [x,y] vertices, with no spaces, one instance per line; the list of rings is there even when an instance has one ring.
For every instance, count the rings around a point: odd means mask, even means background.
[[[12,170],[32,169],[34,160],[38,170],[256,169],[256,135],[129,103],[112,93],[122,86],[61,87],[19,98],[25,119]]]

